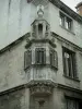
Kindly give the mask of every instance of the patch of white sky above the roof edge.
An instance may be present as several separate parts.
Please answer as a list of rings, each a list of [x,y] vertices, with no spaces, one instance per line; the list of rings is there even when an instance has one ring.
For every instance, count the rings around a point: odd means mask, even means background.
[[[82,0],[61,0],[62,2],[65,2],[68,7],[70,7],[72,10],[75,10],[75,5],[81,2]]]

